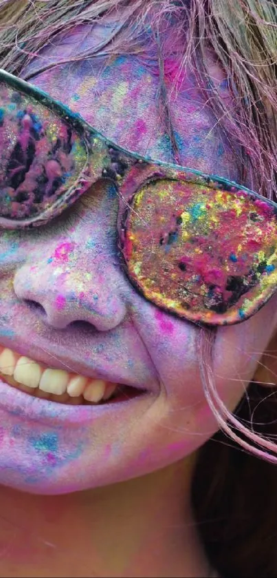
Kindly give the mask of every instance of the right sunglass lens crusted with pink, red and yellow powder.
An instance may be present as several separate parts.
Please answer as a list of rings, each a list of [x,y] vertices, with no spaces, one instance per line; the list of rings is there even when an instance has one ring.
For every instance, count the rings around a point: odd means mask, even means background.
[[[276,290],[276,207],[203,180],[176,176],[138,187],[122,224],[126,272],[162,309],[206,324],[238,323]]]

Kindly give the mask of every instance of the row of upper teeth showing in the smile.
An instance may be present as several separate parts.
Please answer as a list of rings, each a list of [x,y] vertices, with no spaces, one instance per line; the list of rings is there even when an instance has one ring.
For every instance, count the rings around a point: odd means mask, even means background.
[[[9,375],[17,383],[39,388],[47,393],[63,395],[71,398],[82,395],[89,402],[107,400],[115,391],[117,385],[103,380],[91,380],[83,375],[69,373],[64,369],[50,369],[38,362],[21,356],[12,349],[0,348],[0,373]]]

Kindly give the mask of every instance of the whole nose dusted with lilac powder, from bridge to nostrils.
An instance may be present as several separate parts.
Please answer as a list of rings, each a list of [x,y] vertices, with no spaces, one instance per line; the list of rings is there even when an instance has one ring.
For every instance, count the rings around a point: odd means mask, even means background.
[[[117,198],[110,198],[100,184],[82,206],[67,236],[58,228],[53,235],[43,227],[35,232],[32,256],[26,246],[25,262],[14,274],[14,292],[54,329],[87,322],[109,331],[126,316],[114,235]]]

